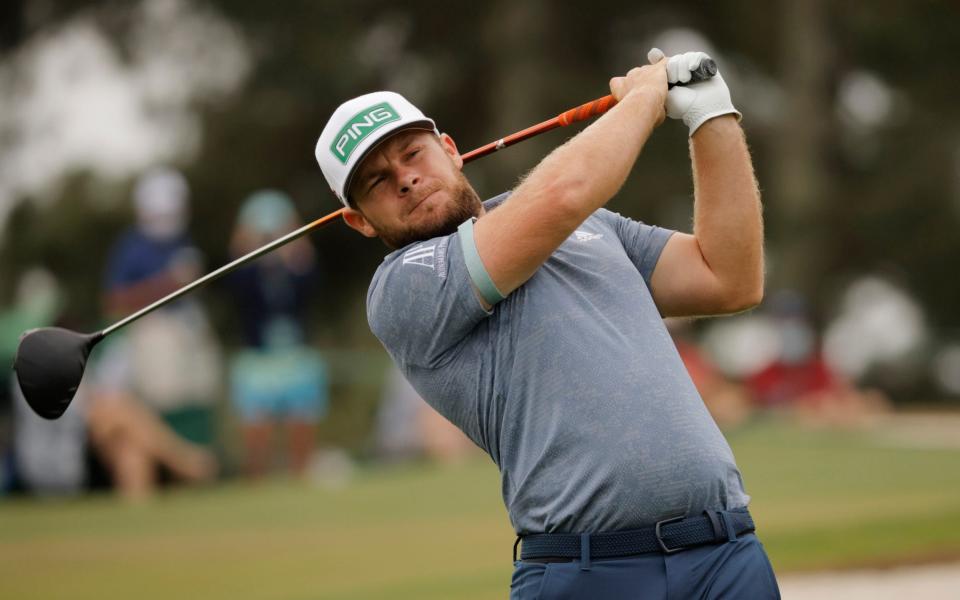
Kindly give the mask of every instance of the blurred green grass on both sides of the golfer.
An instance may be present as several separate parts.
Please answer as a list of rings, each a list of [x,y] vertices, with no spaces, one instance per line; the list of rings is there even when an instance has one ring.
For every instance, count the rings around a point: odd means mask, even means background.
[[[960,450],[775,424],[729,438],[779,571],[960,556]],[[0,503],[0,598],[503,598],[512,543],[483,458],[342,489],[16,500]]]

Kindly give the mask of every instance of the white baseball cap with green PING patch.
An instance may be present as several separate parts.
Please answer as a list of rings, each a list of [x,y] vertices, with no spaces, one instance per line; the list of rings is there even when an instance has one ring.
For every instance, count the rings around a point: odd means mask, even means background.
[[[357,166],[380,142],[401,129],[426,129],[436,124],[396,92],[372,92],[347,100],[327,121],[317,140],[316,156],[327,183],[344,206]]]

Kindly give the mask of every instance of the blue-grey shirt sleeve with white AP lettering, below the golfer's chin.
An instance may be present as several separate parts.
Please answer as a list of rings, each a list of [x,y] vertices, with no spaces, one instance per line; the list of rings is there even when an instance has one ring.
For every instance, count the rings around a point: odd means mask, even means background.
[[[442,366],[492,312],[483,308],[459,233],[419,242],[384,259],[367,293],[374,335],[403,368]]]

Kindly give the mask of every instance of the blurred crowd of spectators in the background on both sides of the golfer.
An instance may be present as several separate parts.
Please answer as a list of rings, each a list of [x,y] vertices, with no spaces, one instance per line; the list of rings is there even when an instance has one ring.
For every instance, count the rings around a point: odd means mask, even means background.
[[[208,267],[188,233],[190,190],[181,173],[144,174],[132,202],[135,223],[115,241],[102,274],[105,322],[168,295]],[[253,191],[236,214],[229,253],[239,258],[302,224],[283,192]],[[0,489],[38,495],[112,489],[141,501],[163,486],[207,484],[235,474],[256,480],[285,472],[309,479],[331,464],[342,472],[349,460],[324,447],[318,435],[334,375],[311,345],[306,319],[307,300],[320,281],[318,263],[303,237],[226,276],[219,285],[229,294],[240,340],[229,347],[215,334],[199,294],[111,335],[93,354],[71,408],[56,421],[34,415],[15,375],[3,370]],[[61,319],[63,302],[49,272],[24,273],[0,313],[0,354],[7,364],[23,331],[69,327]],[[711,346],[702,321],[668,322],[721,427],[768,414],[857,426],[887,410],[881,393],[858,389],[825,360],[803,298],[776,293],[754,313],[772,343],[759,344],[764,352],[737,368],[730,366],[736,361],[724,360],[737,344]],[[227,428],[235,433],[232,442]],[[386,462],[450,461],[475,452],[394,367],[385,373],[371,429],[368,445]],[[237,448],[225,447],[230,444]]]

